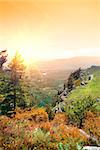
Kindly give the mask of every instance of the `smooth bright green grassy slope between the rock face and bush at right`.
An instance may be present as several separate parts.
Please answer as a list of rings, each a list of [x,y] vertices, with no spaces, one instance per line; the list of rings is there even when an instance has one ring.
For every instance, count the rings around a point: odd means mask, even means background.
[[[83,99],[88,96],[91,96],[92,98],[100,98],[100,70],[93,71],[93,75],[94,78],[92,81],[89,81],[85,86],[79,86],[73,90],[69,94],[67,100]]]

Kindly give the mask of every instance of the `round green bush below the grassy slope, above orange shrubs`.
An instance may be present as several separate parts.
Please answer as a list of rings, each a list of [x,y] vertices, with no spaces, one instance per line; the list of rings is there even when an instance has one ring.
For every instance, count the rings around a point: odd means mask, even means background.
[[[84,121],[85,112],[92,110],[95,103],[96,100],[87,97],[82,100],[75,100],[67,105],[65,111],[69,115],[70,122],[81,127]]]

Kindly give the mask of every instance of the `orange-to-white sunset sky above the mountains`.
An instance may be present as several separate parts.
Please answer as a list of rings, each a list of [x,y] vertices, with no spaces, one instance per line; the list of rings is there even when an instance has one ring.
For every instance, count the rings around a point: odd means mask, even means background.
[[[100,57],[100,0],[0,0],[0,49],[27,61]]]

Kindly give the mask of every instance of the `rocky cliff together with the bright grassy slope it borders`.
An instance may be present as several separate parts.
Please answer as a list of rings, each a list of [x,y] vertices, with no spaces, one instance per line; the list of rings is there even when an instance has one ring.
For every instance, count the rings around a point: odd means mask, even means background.
[[[91,66],[84,70],[76,70],[69,75],[66,85],[58,91],[58,101],[54,111],[60,112],[66,104],[91,96],[99,101],[100,66]],[[58,107],[59,104],[59,107]],[[57,111],[56,111],[57,110]]]

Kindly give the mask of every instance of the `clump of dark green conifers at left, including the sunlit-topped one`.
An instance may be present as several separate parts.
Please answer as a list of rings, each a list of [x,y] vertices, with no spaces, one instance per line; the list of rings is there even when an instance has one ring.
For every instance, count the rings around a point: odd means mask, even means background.
[[[28,83],[24,77],[25,66],[21,56],[16,53],[8,65],[9,71],[0,71],[0,110],[7,114],[19,106],[25,108],[29,97]]]

